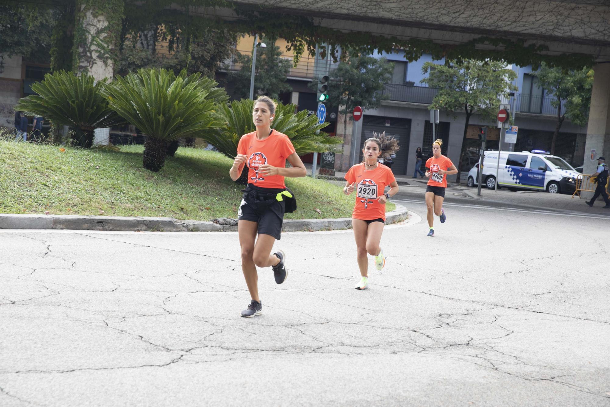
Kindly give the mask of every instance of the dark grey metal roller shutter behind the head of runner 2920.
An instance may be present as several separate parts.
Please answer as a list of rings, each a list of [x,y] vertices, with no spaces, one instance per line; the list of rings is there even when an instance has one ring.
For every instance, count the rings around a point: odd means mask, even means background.
[[[366,139],[373,137],[373,132],[386,132],[398,140],[400,150],[392,164],[392,172],[398,175],[407,174],[407,158],[409,157],[409,138],[411,137],[411,119],[400,119],[398,117],[367,116],[362,118],[362,138],[359,150],[359,161],[362,161],[362,149]],[[389,120],[390,125],[386,126]]]

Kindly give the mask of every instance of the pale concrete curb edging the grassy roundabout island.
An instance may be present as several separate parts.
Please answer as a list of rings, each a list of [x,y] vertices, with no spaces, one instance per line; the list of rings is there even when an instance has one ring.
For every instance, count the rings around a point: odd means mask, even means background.
[[[396,209],[386,214],[386,224],[404,221],[407,208],[396,204]],[[226,219],[231,222],[231,219]],[[350,229],[351,218],[337,219],[289,219],[284,221],[284,232],[312,230]],[[79,215],[18,215],[0,213],[0,229],[71,229],[114,230],[121,232],[235,232],[237,225],[206,221],[180,221],[174,218],[145,218],[129,216],[79,216]]]

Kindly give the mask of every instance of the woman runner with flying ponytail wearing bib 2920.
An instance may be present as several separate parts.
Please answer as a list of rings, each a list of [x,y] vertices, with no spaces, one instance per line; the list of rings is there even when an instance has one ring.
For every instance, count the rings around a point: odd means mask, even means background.
[[[393,141],[390,145],[393,147],[389,149],[397,149],[398,143]],[[343,193],[350,195],[356,191],[356,203],[351,216],[361,274],[356,290],[365,290],[368,287],[367,254],[375,257],[377,270],[386,265],[386,258],[380,246],[381,234],[386,224],[386,202],[398,192],[398,183],[392,170],[378,162],[380,155],[391,155],[395,151],[384,151],[382,147],[378,138],[367,139],[362,149],[364,161],[351,167],[345,174]],[[387,186],[390,190],[384,193]]]

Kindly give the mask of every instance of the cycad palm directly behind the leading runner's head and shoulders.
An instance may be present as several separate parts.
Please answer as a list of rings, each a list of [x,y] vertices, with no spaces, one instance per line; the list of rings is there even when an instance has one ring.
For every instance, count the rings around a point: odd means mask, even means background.
[[[224,155],[235,158],[239,139],[243,134],[256,130],[252,120],[253,108],[254,101],[249,99],[232,101],[230,106],[220,105],[218,111],[223,116],[224,126],[218,131],[204,134],[202,138],[214,145]],[[298,155],[313,152],[340,152],[339,145],[342,141],[320,131],[328,126],[328,123],[319,124],[317,116],[307,116],[307,111],[300,111],[296,114],[295,111],[295,105],[278,103],[271,128],[286,134]],[[248,169],[244,168],[242,177],[237,182],[245,183],[247,171]]]

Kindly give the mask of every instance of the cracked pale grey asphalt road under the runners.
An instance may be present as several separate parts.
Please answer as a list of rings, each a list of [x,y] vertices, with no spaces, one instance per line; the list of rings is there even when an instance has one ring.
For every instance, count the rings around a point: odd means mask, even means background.
[[[446,209],[363,292],[351,231],[282,234],[256,318],[236,233],[0,231],[0,405],[610,406],[610,220]]]

